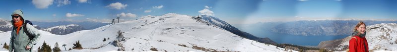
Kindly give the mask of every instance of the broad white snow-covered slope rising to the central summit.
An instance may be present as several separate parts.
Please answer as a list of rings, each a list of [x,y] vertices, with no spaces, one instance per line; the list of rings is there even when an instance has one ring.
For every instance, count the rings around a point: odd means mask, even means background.
[[[110,24],[93,30],[77,31],[66,35],[54,35],[46,31],[33,50],[44,41],[52,48],[55,42],[66,44],[71,48],[75,41],[80,41],[83,50],[66,52],[106,52],[116,51],[113,46],[117,40],[117,31],[123,32],[125,41],[121,48],[126,51],[168,51],[168,52],[284,52],[283,48],[259,43],[233,34],[215,25],[207,25],[194,16],[168,13],[162,16],[143,16],[140,19]],[[10,32],[0,33],[0,43],[8,43]],[[108,39],[109,38],[109,39]],[[107,41],[103,40],[106,39]],[[62,46],[61,50],[65,51]],[[296,52],[296,51],[293,51]]]

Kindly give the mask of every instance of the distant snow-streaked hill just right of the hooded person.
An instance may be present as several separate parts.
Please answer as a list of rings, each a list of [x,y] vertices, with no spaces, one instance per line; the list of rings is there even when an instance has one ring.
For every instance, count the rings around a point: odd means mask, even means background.
[[[79,26],[77,24],[69,24],[69,25],[54,26],[54,27],[50,27],[50,28],[42,29],[42,30],[48,31],[50,33],[57,34],[57,35],[65,35],[65,34],[73,33],[73,32],[80,31],[80,30],[85,30],[85,29],[84,29],[84,27]]]

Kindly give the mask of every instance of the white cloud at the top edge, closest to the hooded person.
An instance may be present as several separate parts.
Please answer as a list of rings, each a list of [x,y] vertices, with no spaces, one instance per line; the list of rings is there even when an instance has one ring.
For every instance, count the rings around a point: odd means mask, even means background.
[[[34,6],[36,6],[36,8],[44,9],[53,4],[53,1],[54,0],[32,0],[32,3]]]

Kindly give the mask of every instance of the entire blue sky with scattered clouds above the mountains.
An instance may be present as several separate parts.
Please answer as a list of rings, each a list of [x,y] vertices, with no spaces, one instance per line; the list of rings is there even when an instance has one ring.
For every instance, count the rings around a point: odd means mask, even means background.
[[[22,9],[33,21],[129,21],[146,15],[211,14],[231,24],[317,19],[397,19],[397,0],[1,0],[0,18]],[[202,11],[202,12],[199,12]]]

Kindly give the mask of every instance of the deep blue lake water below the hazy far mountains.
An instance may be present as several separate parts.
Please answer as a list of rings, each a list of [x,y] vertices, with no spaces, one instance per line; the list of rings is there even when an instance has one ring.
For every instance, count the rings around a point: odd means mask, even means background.
[[[259,32],[252,33],[257,37],[268,37],[278,44],[294,44],[300,46],[318,46],[322,41],[343,39],[350,35],[335,35],[335,36],[302,36],[302,35],[289,35],[273,32]]]

